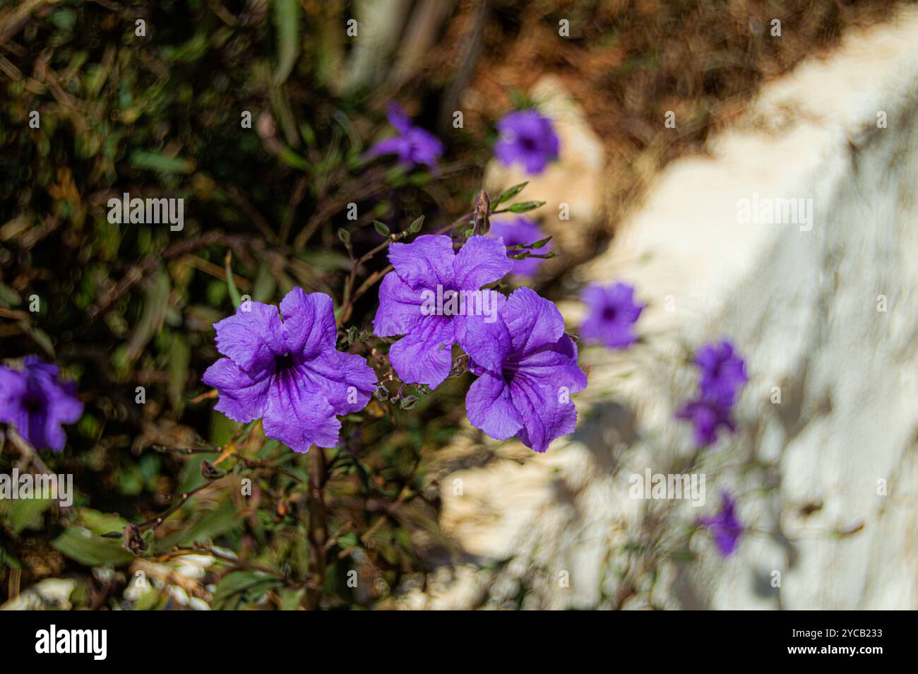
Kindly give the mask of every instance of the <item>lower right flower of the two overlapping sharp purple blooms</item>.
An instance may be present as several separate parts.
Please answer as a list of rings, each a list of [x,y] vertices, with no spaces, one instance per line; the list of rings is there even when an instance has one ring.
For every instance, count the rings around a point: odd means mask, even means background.
[[[465,396],[472,425],[496,440],[516,435],[536,452],[574,431],[570,394],[586,388],[587,376],[554,304],[521,287],[503,302],[497,321],[474,317],[464,328],[459,344],[478,375]]]

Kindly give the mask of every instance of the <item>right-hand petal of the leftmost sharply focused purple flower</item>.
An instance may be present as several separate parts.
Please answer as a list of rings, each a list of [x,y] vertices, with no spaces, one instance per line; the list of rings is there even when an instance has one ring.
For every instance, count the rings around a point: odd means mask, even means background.
[[[300,365],[299,371],[322,390],[335,414],[359,412],[376,388],[376,374],[357,354],[327,351]]]

